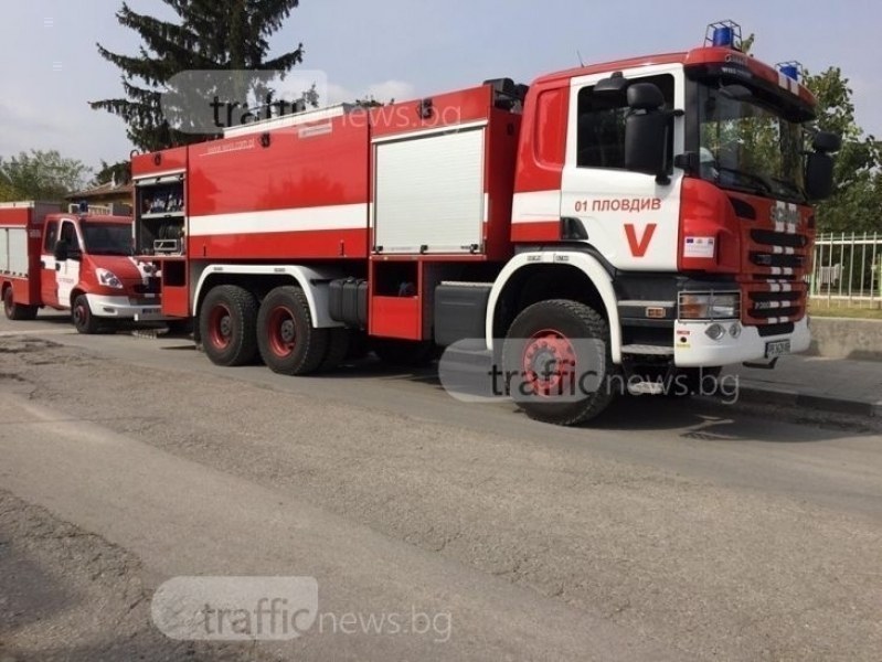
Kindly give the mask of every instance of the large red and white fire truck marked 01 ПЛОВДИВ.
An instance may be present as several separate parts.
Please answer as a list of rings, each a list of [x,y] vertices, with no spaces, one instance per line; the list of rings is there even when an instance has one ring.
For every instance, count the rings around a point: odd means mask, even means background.
[[[809,345],[809,202],[838,138],[811,132],[796,67],[737,32],[136,156],[136,250],[219,365],[305,375],[359,334],[401,362],[470,342],[557,424],[599,413],[614,374],[774,365]],[[561,398],[580,366],[596,387]]]

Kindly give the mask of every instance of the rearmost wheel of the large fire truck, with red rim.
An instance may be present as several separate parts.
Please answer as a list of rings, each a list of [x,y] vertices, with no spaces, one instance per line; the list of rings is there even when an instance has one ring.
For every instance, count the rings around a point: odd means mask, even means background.
[[[199,311],[205,354],[215,365],[245,365],[257,355],[257,299],[245,288],[221,285]]]

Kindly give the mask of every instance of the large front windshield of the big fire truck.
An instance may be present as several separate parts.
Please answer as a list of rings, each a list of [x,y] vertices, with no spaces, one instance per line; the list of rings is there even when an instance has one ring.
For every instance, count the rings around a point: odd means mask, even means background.
[[[701,177],[724,189],[804,203],[804,130],[746,95],[699,86]]]

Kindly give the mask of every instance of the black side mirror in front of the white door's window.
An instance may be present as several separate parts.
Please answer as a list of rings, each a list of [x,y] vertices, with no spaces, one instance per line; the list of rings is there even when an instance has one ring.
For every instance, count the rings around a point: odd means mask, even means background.
[[[625,120],[625,168],[655,174],[660,184],[668,183],[666,148],[671,114],[662,110],[665,97],[652,83],[635,83],[628,87],[631,113]]]

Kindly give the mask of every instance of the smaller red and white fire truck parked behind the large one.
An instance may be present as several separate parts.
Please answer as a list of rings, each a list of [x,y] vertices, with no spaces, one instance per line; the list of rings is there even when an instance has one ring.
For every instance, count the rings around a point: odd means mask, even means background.
[[[70,310],[81,333],[159,319],[153,267],[132,257],[131,217],[110,211],[0,203],[0,293],[9,319],[32,320],[43,307]]]

